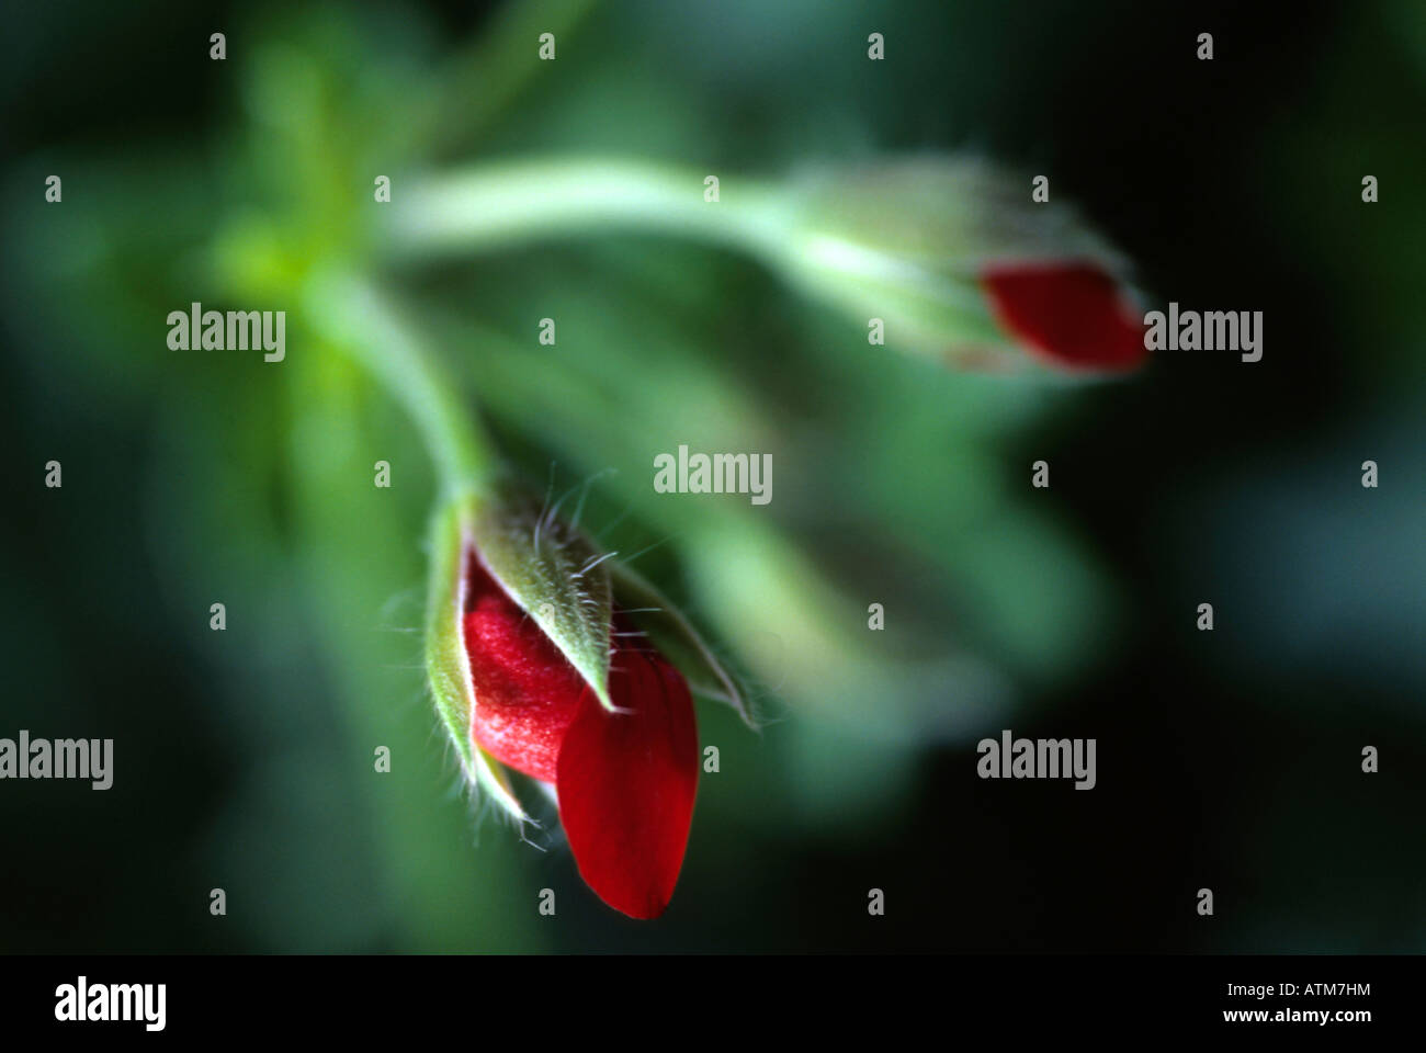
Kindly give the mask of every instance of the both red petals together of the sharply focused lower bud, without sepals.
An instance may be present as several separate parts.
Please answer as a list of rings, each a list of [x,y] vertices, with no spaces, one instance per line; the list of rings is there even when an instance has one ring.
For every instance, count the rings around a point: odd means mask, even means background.
[[[555,783],[575,863],[600,899],[657,917],[683,866],[699,778],[683,675],[616,611],[609,711],[475,555],[466,575],[471,736],[502,763]]]

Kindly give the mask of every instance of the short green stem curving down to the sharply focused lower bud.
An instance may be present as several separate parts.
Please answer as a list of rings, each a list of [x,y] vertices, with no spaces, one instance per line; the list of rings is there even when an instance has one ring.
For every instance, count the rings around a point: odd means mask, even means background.
[[[334,270],[308,283],[305,304],[318,331],[352,354],[405,407],[446,497],[489,489],[495,474],[489,439],[462,405],[458,385],[391,300],[365,277]]]

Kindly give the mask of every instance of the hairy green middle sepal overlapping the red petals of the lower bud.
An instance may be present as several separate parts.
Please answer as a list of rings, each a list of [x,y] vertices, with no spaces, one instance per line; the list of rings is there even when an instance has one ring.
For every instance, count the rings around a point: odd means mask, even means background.
[[[472,522],[485,569],[579,671],[605,709],[609,698],[609,556],[583,534],[520,497],[483,502]]]

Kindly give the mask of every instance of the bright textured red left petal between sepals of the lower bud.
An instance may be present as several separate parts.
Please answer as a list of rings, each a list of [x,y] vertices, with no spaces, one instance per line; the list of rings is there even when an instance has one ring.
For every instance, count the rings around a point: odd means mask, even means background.
[[[501,763],[553,782],[559,743],[579,711],[585,681],[478,565],[471,569],[471,589],[465,615],[475,685],[471,735]]]

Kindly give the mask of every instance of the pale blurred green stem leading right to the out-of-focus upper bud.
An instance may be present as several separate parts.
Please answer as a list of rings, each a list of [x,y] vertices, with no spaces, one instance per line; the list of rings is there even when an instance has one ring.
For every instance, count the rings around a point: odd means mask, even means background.
[[[392,205],[398,255],[429,257],[550,237],[646,230],[771,257],[787,221],[769,185],[729,178],[706,201],[716,173],[630,160],[506,161],[431,177]]]

